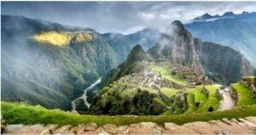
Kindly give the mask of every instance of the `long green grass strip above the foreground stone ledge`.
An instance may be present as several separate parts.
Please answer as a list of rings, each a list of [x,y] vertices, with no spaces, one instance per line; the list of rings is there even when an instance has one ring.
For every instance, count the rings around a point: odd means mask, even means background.
[[[76,115],[62,110],[47,110],[41,106],[30,106],[26,104],[9,104],[1,102],[2,115],[4,120],[9,124],[58,124],[61,125],[78,125],[82,123],[96,122],[99,126],[105,124],[115,124],[117,126],[137,123],[142,121],[152,121],[158,124],[164,122],[174,122],[183,124],[192,121],[210,121],[222,118],[240,118],[245,116],[256,115],[256,105],[245,106],[235,110],[214,111],[212,113],[201,112],[183,115]]]

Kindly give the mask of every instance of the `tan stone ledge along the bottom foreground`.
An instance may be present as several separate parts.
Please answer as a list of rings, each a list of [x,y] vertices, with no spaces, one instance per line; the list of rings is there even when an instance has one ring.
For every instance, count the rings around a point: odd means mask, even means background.
[[[196,121],[178,126],[174,123],[157,125],[153,122],[141,122],[129,126],[115,126],[107,124],[97,127],[95,123],[79,125],[77,127],[56,125],[9,125],[6,134],[255,134],[256,117],[249,116],[239,119],[222,119],[221,121]]]

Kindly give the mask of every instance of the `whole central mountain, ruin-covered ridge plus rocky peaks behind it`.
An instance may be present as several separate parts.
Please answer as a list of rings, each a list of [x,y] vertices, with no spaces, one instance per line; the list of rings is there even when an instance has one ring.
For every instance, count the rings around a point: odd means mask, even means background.
[[[166,30],[147,53],[135,46],[125,62],[104,77],[102,90],[92,99],[90,113],[212,112],[220,108],[223,98],[223,87],[212,85],[212,81],[226,85],[253,74],[241,53],[193,38],[180,21],[174,21]]]

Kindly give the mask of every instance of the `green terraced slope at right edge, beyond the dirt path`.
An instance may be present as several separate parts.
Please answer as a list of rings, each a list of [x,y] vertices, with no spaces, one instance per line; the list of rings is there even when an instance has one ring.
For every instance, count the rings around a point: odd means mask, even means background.
[[[256,98],[252,98],[253,92],[246,86],[240,83],[232,84],[239,95],[237,106],[256,104]]]

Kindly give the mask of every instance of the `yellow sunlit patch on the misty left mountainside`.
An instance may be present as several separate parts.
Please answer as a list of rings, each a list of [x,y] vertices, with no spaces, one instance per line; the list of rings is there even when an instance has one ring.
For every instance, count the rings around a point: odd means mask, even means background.
[[[88,33],[71,33],[47,31],[32,37],[37,42],[49,43],[55,46],[67,46],[70,42],[90,42],[92,37]]]

